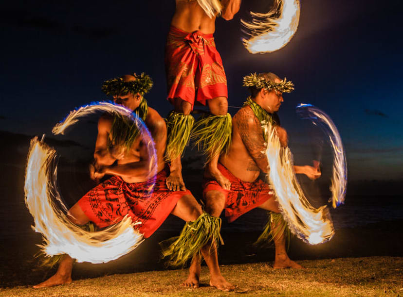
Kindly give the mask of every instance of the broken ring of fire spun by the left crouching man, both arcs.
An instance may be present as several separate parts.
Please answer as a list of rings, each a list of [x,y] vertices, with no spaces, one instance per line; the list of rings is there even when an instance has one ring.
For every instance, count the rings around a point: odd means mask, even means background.
[[[107,102],[83,106],[57,124],[53,132],[63,133],[78,121],[78,117],[95,111],[117,111],[138,123],[143,140],[148,144],[150,175],[155,174],[156,154],[152,138],[141,120],[125,107]],[[96,264],[115,260],[138,247],[143,242],[143,235],[135,231],[133,226],[140,222],[132,223],[129,216],[125,216],[118,224],[96,232],[84,231],[68,219],[55,204],[56,199],[63,210],[67,211],[57,189],[55,157],[55,149],[37,137],[31,140],[25,177],[25,203],[34,217],[33,229],[43,235],[44,243],[39,245],[42,251],[47,256],[69,254],[78,262]]]

